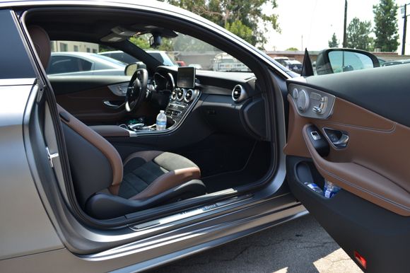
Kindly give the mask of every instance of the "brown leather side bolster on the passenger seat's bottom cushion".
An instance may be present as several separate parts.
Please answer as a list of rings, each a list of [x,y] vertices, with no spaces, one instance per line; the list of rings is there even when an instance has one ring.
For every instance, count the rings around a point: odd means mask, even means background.
[[[178,170],[172,170],[159,178],[154,180],[151,185],[149,185],[144,191],[136,194],[130,199],[146,199],[148,197],[153,197],[161,192],[172,189],[182,185],[190,180],[201,178],[201,170],[197,167],[183,168]]]

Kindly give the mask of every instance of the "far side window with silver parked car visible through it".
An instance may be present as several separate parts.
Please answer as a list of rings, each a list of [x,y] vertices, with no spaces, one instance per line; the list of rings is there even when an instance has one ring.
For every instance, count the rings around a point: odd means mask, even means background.
[[[61,76],[124,76],[124,52],[91,42],[52,41],[47,74]]]

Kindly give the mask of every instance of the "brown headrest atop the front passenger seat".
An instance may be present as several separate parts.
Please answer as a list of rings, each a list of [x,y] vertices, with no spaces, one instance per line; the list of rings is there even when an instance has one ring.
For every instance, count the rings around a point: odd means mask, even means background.
[[[38,57],[40,57],[42,67],[44,69],[47,69],[49,58],[51,56],[49,35],[43,28],[39,27],[38,25],[30,25],[28,27],[28,34],[33,41]]]

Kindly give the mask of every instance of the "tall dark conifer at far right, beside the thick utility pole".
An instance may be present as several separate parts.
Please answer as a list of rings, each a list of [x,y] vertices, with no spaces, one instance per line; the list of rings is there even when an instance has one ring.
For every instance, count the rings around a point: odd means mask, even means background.
[[[394,52],[399,47],[397,34],[397,4],[394,0],[380,0],[373,6],[375,14],[375,47],[382,52]]]

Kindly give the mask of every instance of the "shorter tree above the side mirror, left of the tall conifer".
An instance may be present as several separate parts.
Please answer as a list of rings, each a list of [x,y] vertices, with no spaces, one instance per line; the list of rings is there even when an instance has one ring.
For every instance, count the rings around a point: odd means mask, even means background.
[[[373,51],[372,23],[355,17],[347,27],[347,46],[358,50]]]

